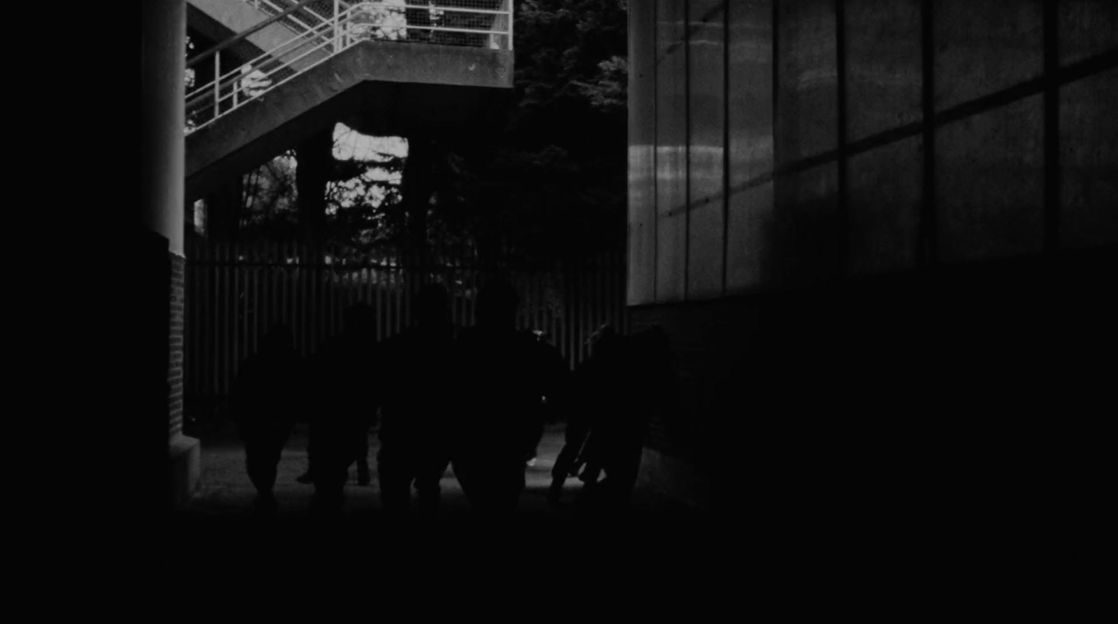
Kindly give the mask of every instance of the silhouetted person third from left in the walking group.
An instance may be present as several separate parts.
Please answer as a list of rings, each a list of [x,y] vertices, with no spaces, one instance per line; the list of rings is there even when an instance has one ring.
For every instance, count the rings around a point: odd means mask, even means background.
[[[377,474],[385,510],[402,512],[415,484],[419,505],[438,505],[439,481],[451,463],[454,405],[454,325],[446,289],[429,284],[415,300],[415,323],[380,350],[383,381]]]

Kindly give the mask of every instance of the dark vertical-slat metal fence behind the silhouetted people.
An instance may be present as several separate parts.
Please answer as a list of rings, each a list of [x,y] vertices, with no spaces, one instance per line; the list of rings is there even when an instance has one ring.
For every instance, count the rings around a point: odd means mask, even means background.
[[[342,329],[357,302],[377,313],[377,338],[408,327],[420,280],[442,283],[458,327],[474,323],[486,271],[472,264],[407,266],[397,261],[339,259],[331,249],[297,243],[237,245],[190,240],[186,271],[184,399],[188,422],[220,418],[238,366],[276,320],[292,327],[296,349],[311,356]],[[550,271],[505,273],[521,305],[518,327],[534,330],[570,367],[588,354],[591,333],[605,323],[627,331],[623,253]]]

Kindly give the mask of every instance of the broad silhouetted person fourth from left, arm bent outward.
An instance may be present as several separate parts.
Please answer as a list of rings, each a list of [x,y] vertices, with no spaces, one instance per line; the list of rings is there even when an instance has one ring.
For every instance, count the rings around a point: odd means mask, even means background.
[[[562,400],[566,366],[531,332],[517,331],[518,297],[503,281],[477,301],[477,324],[458,339],[461,408],[454,474],[470,502],[487,514],[515,510],[525,457],[542,434],[543,396]]]

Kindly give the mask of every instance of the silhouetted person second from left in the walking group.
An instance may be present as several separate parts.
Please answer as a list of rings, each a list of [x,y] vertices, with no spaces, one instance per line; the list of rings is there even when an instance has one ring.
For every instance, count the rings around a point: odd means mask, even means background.
[[[307,454],[318,511],[341,509],[354,462],[359,479],[368,483],[369,427],[378,407],[376,349],[372,309],[356,304],[345,312],[342,333],[328,340],[315,357],[318,384]]]

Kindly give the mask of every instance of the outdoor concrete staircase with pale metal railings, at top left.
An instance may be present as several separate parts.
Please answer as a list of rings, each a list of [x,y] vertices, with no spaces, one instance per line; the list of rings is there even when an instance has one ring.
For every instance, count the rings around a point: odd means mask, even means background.
[[[513,53],[511,13],[498,11],[508,0],[490,1],[494,9],[447,8],[443,15],[457,16],[454,20],[425,19],[434,26],[423,27],[405,21],[405,11],[413,20],[417,9],[406,9],[402,0],[340,4],[339,13],[315,25],[307,23],[314,16],[297,23],[281,18],[243,37],[239,42],[271,47],[239,66],[217,67],[216,84],[187,94],[188,119],[198,124],[187,135],[187,201],[337,122],[380,135],[491,132],[512,87]],[[193,11],[241,32],[294,6],[291,0],[262,0],[260,9],[255,0],[189,2]],[[306,30],[295,31],[303,26]],[[501,41],[504,48],[492,45]]]

